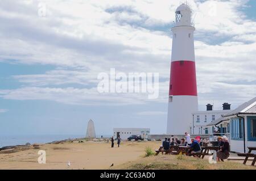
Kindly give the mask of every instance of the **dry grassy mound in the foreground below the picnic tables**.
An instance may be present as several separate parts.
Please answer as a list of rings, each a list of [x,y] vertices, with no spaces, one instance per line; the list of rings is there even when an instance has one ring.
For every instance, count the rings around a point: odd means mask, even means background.
[[[115,167],[113,168],[115,169]],[[117,169],[117,168],[116,168]],[[157,155],[138,159],[118,166],[118,169],[138,170],[256,170],[254,166],[243,165],[232,161],[210,164],[207,159],[184,156],[179,159],[177,155]]]

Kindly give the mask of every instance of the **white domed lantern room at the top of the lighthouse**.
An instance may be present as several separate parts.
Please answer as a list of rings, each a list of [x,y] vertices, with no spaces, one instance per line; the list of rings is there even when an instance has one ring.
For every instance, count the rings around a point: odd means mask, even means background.
[[[191,8],[185,3],[177,7],[175,26],[191,26]]]

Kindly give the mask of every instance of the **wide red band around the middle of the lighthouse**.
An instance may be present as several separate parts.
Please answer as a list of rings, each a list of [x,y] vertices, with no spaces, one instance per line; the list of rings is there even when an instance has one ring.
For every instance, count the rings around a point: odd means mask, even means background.
[[[172,61],[169,95],[197,96],[194,61]]]

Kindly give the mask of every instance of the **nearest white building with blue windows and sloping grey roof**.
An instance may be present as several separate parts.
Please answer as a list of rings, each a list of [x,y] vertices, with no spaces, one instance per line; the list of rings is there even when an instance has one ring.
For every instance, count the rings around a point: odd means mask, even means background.
[[[231,151],[247,152],[248,146],[256,146],[256,97],[226,113],[215,124],[228,124]]]

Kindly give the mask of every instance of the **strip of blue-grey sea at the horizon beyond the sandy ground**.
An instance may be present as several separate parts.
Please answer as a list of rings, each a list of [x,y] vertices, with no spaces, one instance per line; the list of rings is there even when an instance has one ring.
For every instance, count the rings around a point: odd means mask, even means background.
[[[102,135],[103,137],[111,137],[111,135]],[[27,134],[27,135],[1,135],[0,134],[0,148],[3,146],[25,145],[27,142],[30,144],[46,144],[52,141],[60,141],[74,138],[83,138],[84,134]],[[96,135],[100,138],[101,135]]]

